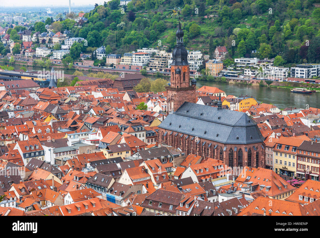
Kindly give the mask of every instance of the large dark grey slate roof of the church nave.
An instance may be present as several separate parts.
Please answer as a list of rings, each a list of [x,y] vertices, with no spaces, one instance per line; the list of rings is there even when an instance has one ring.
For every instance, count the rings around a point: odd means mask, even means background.
[[[264,139],[245,113],[190,102],[184,102],[158,127],[225,144],[261,143]]]

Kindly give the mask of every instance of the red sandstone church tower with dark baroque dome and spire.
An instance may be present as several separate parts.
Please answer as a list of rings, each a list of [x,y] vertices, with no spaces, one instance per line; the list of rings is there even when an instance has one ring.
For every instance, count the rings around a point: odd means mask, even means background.
[[[188,52],[183,45],[183,30],[176,32],[177,44],[172,51],[171,85],[167,89],[167,115],[175,112],[184,102],[196,103],[196,79],[190,82]]]

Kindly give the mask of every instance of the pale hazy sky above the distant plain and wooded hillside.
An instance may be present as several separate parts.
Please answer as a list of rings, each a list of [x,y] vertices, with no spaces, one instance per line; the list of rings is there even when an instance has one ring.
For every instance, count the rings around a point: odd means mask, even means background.
[[[110,0],[106,0],[106,2],[108,2]],[[90,1],[86,1],[86,0],[71,0],[71,7],[73,6],[73,4],[75,4],[75,6],[79,6],[79,5],[94,5],[94,4],[103,4],[104,1],[98,0],[90,0]],[[30,7],[36,7],[36,6],[68,6],[69,5],[69,1],[68,0],[55,0],[54,4],[48,4],[45,3],[43,0],[31,0],[31,1],[21,1],[21,0],[12,0],[12,1],[7,1],[7,2],[2,2],[0,3],[0,7],[21,7],[21,6],[30,6]]]

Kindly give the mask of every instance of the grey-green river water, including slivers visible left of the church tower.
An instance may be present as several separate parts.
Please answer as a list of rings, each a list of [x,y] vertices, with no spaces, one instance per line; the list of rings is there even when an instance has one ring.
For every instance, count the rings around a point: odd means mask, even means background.
[[[21,65],[12,65],[15,69],[20,69]],[[41,67],[32,67],[27,66],[27,70],[29,71],[42,71],[43,68]],[[47,70],[51,70],[47,69]],[[73,74],[75,70],[64,70],[65,74]],[[86,75],[89,73],[88,71],[81,71]],[[95,72],[95,71],[91,71]],[[110,73],[119,75],[119,73]],[[155,80],[160,77],[156,77],[153,75],[147,75],[148,78]],[[169,77],[164,77],[166,80],[170,80]],[[211,86],[217,87],[226,92],[227,95],[234,95],[239,97],[242,95],[248,95],[255,98],[258,102],[264,102],[268,104],[273,104],[280,109],[285,107],[297,107],[297,108],[306,108],[309,107],[316,107],[320,108],[320,93],[315,92],[312,94],[299,94],[299,93],[291,93],[290,89],[284,88],[271,88],[271,87],[259,87],[259,86],[251,86],[246,84],[232,84],[232,83],[223,83],[223,82],[210,82],[210,81],[197,81],[197,86]],[[306,106],[307,105],[307,106]]]

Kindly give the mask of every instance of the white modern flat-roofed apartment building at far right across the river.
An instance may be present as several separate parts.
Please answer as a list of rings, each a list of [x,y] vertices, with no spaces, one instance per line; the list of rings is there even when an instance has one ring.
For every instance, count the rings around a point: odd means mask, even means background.
[[[314,76],[320,76],[320,64],[297,64],[290,68],[292,78],[310,79]]]

